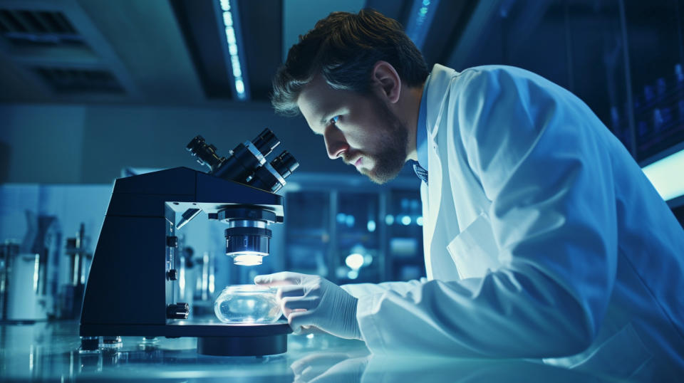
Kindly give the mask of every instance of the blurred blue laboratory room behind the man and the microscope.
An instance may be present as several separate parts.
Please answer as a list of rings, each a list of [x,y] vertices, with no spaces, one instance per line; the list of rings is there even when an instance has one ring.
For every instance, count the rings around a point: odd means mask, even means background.
[[[227,155],[266,127],[300,163],[271,255],[235,266],[225,228],[194,219],[177,232],[180,301],[212,313],[225,285],[271,271],[425,276],[413,169],[372,184],[269,104],[298,36],[364,7],[430,66],[515,65],[571,90],[684,222],[684,0],[0,0],[1,319],[78,318],[114,179],[202,169],[192,137]]]

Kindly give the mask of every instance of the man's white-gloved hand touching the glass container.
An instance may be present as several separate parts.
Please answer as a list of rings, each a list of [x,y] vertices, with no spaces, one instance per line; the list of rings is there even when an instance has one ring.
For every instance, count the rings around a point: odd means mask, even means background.
[[[281,308],[294,332],[315,326],[337,337],[361,340],[356,321],[358,299],[326,278],[284,271],[257,276],[254,283],[280,286]]]

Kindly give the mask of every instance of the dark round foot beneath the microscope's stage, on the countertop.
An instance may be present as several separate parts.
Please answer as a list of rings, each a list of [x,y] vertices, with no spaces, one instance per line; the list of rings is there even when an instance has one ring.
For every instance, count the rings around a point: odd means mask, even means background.
[[[287,352],[287,334],[263,337],[198,337],[197,353],[221,357],[274,355]]]

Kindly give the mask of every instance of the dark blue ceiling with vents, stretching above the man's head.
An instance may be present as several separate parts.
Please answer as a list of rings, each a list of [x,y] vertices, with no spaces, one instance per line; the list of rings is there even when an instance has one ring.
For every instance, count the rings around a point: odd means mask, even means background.
[[[636,92],[658,73],[670,72],[673,63],[684,61],[682,2],[623,2]],[[573,91],[607,122],[611,105],[621,105],[625,93],[621,46],[627,40],[621,35],[618,4],[621,1],[0,0],[0,102],[266,103],[271,78],[300,34],[331,11],[370,7],[400,21],[429,65],[460,70],[500,63],[526,68]],[[224,8],[232,15],[234,47],[226,33]],[[237,92],[234,58],[241,68],[243,94]]]

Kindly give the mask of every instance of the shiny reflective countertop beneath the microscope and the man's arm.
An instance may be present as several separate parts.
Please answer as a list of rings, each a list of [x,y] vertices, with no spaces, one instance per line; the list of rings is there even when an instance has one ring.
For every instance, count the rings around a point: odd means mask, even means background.
[[[198,355],[195,338],[147,341],[79,352],[77,322],[0,325],[0,381],[165,382],[611,382],[524,360],[380,357],[363,342],[289,335],[288,351],[266,357]]]

